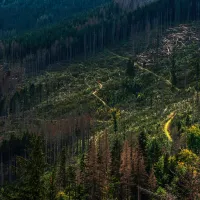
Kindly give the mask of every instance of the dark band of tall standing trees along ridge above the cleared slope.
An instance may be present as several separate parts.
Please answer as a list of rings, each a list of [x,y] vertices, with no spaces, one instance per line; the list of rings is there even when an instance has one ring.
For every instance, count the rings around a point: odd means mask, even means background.
[[[37,73],[61,60],[71,62],[80,55],[87,58],[130,36],[134,40],[143,30],[160,27],[160,34],[173,24],[198,20],[199,8],[199,0],[156,1],[129,12],[109,4],[82,18],[1,41],[0,58],[11,64],[19,62],[27,72]]]

